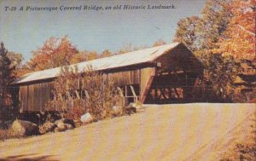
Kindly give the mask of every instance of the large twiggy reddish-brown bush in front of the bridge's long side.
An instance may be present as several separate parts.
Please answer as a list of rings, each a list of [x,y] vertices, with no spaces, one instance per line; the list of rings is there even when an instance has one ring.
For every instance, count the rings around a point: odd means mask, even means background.
[[[54,86],[49,108],[63,112],[64,118],[78,120],[86,112],[96,119],[107,118],[119,100],[113,81],[91,66],[82,73],[77,67],[63,67]]]

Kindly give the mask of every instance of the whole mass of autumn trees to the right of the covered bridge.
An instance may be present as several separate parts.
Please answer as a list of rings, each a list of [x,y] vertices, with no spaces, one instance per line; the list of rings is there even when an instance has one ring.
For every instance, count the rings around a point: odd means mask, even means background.
[[[208,0],[201,17],[179,20],[174,41],[206,66],[207,101],[255,100],[255,1]]]

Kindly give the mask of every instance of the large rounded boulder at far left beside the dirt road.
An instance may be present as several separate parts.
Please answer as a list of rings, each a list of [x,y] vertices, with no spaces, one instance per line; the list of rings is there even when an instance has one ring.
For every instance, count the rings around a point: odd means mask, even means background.
[[[29,121],[16,119],[11,128],[15,135],[38,135],[38,125]]]

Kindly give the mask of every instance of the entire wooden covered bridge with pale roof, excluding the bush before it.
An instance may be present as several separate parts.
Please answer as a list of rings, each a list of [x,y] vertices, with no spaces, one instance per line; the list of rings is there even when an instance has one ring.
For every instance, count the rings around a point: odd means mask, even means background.
[[[183,43],[171,43],[141,49],[123,55],[75,64],[79,72],[93,66],[112,78],[127,101],[143,103],[195,101],[195,89],[203,76],[203,66]],[[71,65],[71,66],[75,66]],[[51,99],[53,82],[61,67],[31,72],[12,85],[19,88],[23,111],[44,111]]]

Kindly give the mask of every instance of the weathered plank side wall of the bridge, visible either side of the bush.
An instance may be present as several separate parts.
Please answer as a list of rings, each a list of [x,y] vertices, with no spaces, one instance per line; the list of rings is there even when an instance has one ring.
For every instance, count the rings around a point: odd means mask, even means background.
[[[106,73],[118,86],[140,84],[140,70]],[[31,83],[21,85],[19,91],[20,108],[22,111],[39,112],[47,111],[46,106],[50,101],[53,82]]]

